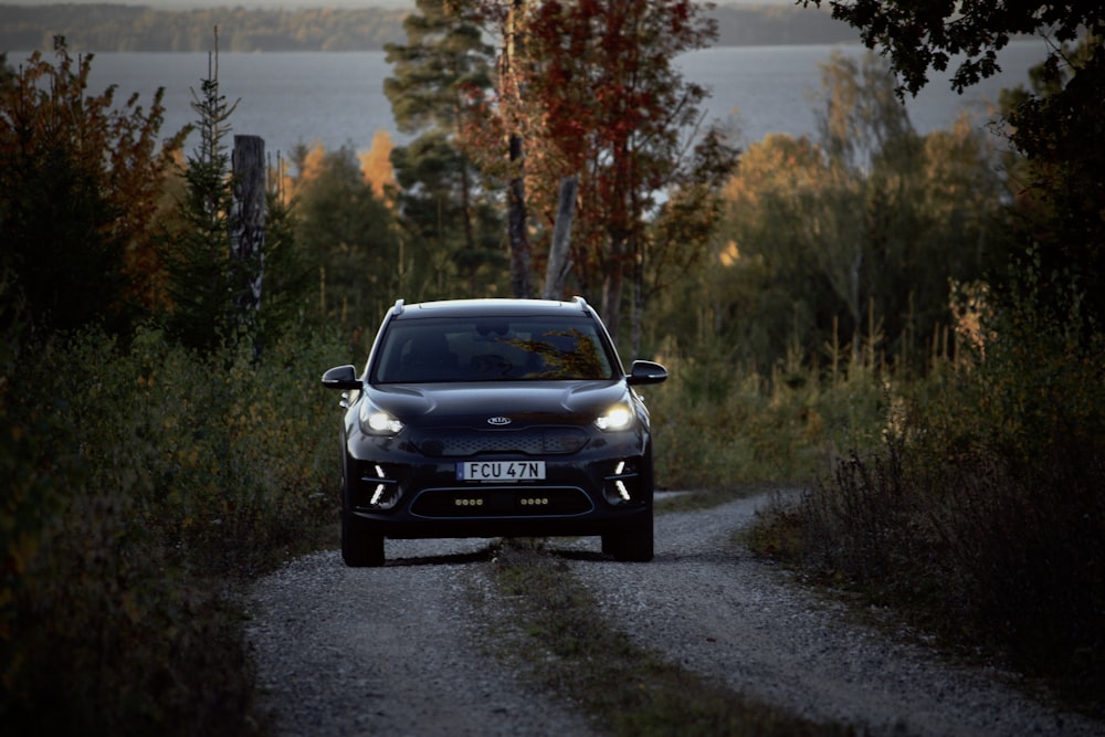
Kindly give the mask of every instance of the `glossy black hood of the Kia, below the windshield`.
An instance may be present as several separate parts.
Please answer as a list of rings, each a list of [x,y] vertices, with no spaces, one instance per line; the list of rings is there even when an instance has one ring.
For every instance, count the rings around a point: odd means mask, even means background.
[[[368,394],[377,407],[407,424],[522,429],[590,422],[624,400],[627,391],[624,382],[618,380],[499,381],[389,385],[370,388]]]

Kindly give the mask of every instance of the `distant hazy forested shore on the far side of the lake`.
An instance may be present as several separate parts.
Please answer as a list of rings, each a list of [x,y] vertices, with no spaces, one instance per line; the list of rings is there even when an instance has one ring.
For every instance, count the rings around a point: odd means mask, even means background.
[[[211,29],[224,33],[223,50],[379,51],[401,42],[409,11],[364,8],[189,11],[119,4],[0,4],[0,50],[50,49],[63,35],[75,51],[208,51]],[[856,42],[859,34],[828,12],[799,8],[724,6],[717,45]]]

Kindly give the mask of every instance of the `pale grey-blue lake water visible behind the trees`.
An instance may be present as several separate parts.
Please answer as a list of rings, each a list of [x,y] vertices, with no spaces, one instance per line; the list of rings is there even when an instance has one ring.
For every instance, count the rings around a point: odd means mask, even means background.
[[[712,91],[707,116],[732,120],[739,143],[747,145],[769,133],[815,135],[811,101],[820,92],[820,65],[833,51],[864,53],[859,45],[726,46],[686,54],[678,63],[686,80]],[[1025,83],[1028,70],[1045,53],[1039,40],[1010,44],[1000,56],[1002,74],[962,96],[950,90],[949,73],[930,74],[928,87],[907,102],[915,128],[919,133],[948,128],[964,109],[985,125],[986,104],[994,102],[1002,87]],[[11,53],[8,61],[15,65],[25,56]],[[240,99],[230,119],[233,133],[263,137],[270,154],[290,151],[299,143],[322,143],[328,150],[344,145],[362,150],[377,130],[387,130],[397,143],[409,140],[397,133],[383,95],[383,80],[390,74],[383,52],[219,56],[220,90],[228,101]],[[98,94],[115,83],[117,99],[138,92],[148,106],[157,87],[164,86],[162,131],[168,134],[194,122],[192,90],[198,94],[206,76],[208,54],[203,53],[97,53],[91,92]],[[189,141],[189,151],[197,140]]]

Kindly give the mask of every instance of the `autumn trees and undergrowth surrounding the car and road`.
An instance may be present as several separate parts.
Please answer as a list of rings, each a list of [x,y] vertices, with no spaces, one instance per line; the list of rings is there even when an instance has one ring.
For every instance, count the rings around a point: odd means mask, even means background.
[[[217,56],[191,150],[64,38],[0,57],[0,719],[264,734],[233,592],[335,545],[322,371],[399,297],[573,294],[671,372],[661,487],[802,489],[753,550],[1102,714],[1103,9],[825,4],[872,53],[825,62],[817,136],[738,150],[672,63],[696,3],[419,0],[410,143],[272,161],[249,257]],[[914,130],[951,48],[968,87],[1028,27],[994,122]]]

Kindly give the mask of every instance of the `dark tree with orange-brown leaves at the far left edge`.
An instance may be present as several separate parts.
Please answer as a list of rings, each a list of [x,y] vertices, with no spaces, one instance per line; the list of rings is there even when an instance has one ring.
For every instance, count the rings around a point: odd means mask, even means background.
[[[114,86],[88,94],[92,54],[59,41],[56,57],[35,52],[0,90],[0,252],[40,320],[118,329],[157,299],[155,217],[182,135],[158,139],[160,91],[119,106]]]

